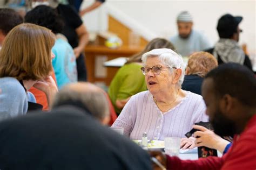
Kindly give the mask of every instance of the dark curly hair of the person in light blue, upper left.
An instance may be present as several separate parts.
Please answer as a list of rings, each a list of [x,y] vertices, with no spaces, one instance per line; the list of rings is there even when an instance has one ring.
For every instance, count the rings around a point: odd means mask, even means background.
[[[57,11],[46,5],[38,5],[26,13],[25,22],[44,26],[55,34],[62,32],[64,26],[64,21]]]

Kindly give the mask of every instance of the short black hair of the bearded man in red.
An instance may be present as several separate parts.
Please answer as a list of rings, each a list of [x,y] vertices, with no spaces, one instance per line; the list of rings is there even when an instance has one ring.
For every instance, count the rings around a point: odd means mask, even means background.
[[[249,107],[256,105],[256,81],[250,69],[237,63],[225,63],[212,69],[205,79],[212,78],[217,95],[229,94]]]

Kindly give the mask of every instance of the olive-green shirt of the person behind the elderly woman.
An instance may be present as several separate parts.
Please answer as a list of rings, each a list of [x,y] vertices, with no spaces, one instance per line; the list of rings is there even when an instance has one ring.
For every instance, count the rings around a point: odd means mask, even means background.
[[[110,84],[108,93],[117,114],[120,114],[122,109],[116,107],[116,100],[123,100],[147,90],[145,76],[140,67],[142,65],[138,63],[124,65],[118,70]]]

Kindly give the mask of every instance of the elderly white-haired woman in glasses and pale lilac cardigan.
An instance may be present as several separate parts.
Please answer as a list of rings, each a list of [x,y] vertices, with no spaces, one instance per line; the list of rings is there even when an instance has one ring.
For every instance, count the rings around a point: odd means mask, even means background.
[[[183,59],[171,49],[153,49],[143,54],[142,73],[148,91],[130,98],[113,127],[123,127],[131,139],[151,140],[180,137],[181,147],[192,148],[193,139],[185,133],[194,123],[207,122],[203,97],[181,89],[185,68]]]

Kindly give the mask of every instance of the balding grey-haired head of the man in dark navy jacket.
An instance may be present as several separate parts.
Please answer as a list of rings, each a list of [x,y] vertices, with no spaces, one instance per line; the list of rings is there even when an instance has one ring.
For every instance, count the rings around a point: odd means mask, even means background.
[[[52,108],[62,105],[74,105],[83,109],[104,125],[110,121],[106,94],[102,89],[91,83],[78,82],[64,86],[56,95]]]

